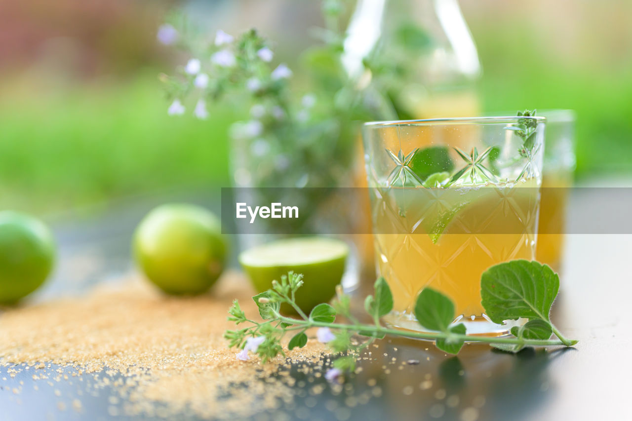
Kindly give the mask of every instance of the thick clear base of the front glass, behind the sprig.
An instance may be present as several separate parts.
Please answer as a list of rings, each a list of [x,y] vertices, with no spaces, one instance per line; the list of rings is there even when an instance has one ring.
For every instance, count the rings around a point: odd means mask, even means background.
[[[425,333],[434,332],[425,329],[417,322],[417,319],[415,319],[415,317],[410,314],[391,312],[384,316],[383,320],[391,329]],[[463,317],[461,315],[457,317],[453,322],[453,324],[459,323],[465,324],[466,333],[469,335],[504,336],[510,333],[513,326],[522,326],[523,324],[525,324],[526,319],[508,320],[504,324],[497,324],[492,322],[492,320],[490,320],[485,314],[476,317]]]

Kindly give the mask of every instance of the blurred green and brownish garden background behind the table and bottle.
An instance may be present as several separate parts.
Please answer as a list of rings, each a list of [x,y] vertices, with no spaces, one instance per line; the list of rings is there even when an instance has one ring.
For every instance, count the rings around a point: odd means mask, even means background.
[[[292,64],[317,25],[300,0],[0,0],[0,197],[38,214],[230,183],[228,126],[169,118],[157,79],[186,57],[155,41],[173,6],[209,34],[257,25]],[[483,111],[576,110],[581,179],[632,173],[632,2],[461,1]],[[199,13],[198,13],[199,12]],[[296,71],[300,72],[300,68]],[[300,79],[300,78],[299,78]]]

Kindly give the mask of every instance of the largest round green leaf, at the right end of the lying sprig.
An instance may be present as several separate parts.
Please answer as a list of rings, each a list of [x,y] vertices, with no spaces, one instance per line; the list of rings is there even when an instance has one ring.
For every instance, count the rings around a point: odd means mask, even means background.
[[[483,272],[480,286],[483,308],[492,322],[501,324],[520,317],[550,322],[559,277],[547,265],[512,260]]]

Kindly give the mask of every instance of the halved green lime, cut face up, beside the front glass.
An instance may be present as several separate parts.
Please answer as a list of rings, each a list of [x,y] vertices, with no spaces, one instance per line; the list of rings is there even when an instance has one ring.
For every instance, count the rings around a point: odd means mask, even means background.
[[[349,247],[339,240],[323,237],[279,240],[250,248],[239,256],[241,266],[252,281],[257,293],[272,288],[272,281],[294,271],[303,274],[303,286],[296,291],[296,304],[303,312],[310,312],[336,294],[336,285],[344,273]],[[284,312],[291,308],[281,307]]]

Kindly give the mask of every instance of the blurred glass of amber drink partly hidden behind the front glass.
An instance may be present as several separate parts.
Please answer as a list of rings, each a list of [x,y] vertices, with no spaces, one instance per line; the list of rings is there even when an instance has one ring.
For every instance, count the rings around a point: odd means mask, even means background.
[[[575,169],[575,114],[571,110],[562,109],[545,110],[538,114],[547,119],[547,138],[536,258],[538,262],[545,263],[560,273],[564,255],[568,194],[573,186]]]

